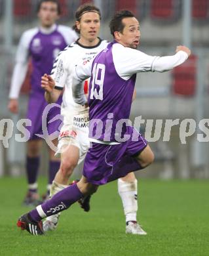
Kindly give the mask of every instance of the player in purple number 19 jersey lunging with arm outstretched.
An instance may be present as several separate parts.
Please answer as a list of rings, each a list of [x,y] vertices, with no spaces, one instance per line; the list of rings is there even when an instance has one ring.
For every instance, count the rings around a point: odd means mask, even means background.
[[[75,68],[73,96],[78,104],[86,104],[82,81],[91,76],[88,106],[92,145],[86,154],[83,177],[18,219],[18,226],[30,234],[43,234],[41,219],[64,211],[96,192],[98,186],[124,177],[130,170],[143,169],[154,160],[147,141],[127,121],[136,74],[171,70],[185,62],[191,51],[178,46],[176,54],[164,57],[137,51],[140,26],[129,11],[115,14],[110,29],[113,43],[92,63]]]

